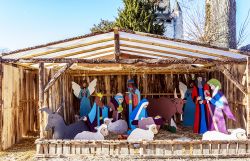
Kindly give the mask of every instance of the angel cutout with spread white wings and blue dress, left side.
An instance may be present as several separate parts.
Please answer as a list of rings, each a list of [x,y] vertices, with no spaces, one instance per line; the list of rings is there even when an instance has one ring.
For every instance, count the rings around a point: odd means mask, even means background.
[[[97,79],[90,82],[89,86],[86,80],[82,82],[82,88],[75,82],[72,82],[72,89],[74,95],[81,99],[80,103],[80,117],[87,116],[91,110],[89,96],[95,91]]]

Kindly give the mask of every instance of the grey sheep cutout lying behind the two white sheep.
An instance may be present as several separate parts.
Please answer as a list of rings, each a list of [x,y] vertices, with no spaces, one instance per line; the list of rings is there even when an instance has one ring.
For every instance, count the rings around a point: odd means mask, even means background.
[[[128,131],[128,124],[125,120],[112,122],[112,118],[105,118],[104,123],[108,126],[108,131],[114,134],[124,134]]]

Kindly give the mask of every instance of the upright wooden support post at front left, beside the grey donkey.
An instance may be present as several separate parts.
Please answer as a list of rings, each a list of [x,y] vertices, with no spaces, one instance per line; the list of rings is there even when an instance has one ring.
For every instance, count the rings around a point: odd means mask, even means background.
[[[44,63],[39,63],[39,108],[43,108],[44,105]],[[40,123],[40,138],[44,138],[44,117],[43,113],[39,111],[39,123]]]

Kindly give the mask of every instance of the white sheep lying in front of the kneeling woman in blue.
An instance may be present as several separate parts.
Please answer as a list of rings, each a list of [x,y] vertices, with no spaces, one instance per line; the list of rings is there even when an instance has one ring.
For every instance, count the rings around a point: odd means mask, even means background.
[[[154,139],[154,135],[158,133],[157,125],[147,125],[148,130],[136,128],[131,134],[128,136],[127,141],[141,141],[147,140],[152,141]]]

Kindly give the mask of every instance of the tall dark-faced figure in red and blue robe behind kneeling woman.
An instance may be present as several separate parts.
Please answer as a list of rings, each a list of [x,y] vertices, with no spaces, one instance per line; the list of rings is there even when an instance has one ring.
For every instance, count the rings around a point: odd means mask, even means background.
[[[135,82],[133,79],[130,79],[128,81],[128,92],[126,92],[127,95],[125,96],[126,104],[128,105],[129,111],[128,111],[128,118],[130,118],[132,110],[138,105],[138,103],[141,101],[141,93],[136,88]],[[129,120],[129,119],[128,119]],[[131,123],[129,122],[129,127],[131,128]]]

